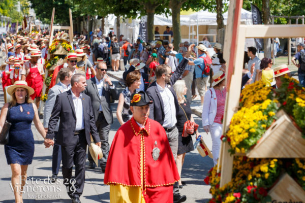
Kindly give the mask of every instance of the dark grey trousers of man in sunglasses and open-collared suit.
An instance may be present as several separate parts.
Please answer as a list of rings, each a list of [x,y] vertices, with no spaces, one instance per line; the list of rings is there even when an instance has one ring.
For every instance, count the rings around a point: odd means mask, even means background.
[[[99,160],[99,162],[100,162],[101,168],[104,170],[106,167],[107,158],[108,158],[108,154],[109,154],[108,136],[109,136],[109,131],[110,131],[111,125],[106,122],[103,112],[101,112],[99,114],[98,120],[96,122],[96,126],[97,126],[99,136],[101,139],[101,143],[102,143],[101,149],[103,152],[103,158],[101,158]],[[88,160],[89,160],[89,162],[94,162],[94,160],[92,159],[92,156],[89,152],[89,148],[88,148]]]

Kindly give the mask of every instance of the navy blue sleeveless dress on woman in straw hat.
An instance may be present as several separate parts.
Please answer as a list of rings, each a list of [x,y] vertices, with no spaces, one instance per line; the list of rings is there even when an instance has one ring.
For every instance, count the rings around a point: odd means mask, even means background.
[[[20,111],[20,106],[23,112]],[[9,143],[4,146],[7,162],[31,164],[34,156],[34,137],[31,130],[35,114],[33,104],[16,104],[9,111],[8,122],[12,125],[9,131]]]

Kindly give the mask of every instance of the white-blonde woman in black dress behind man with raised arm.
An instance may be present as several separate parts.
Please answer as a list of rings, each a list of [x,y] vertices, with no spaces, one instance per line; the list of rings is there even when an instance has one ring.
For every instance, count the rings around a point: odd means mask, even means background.
[[[188,103],[185,95],[187,94],[187,86],[184,80],[177,80],[173,85],[173,88],[176,92],[179,111],[176,114],[177,123],[176,127],[178,128],[178,152],[176,158],[176,165],[178,168],[179,176],[181,177],[182,166],[186,157],[186,153],[194,150],[193,140],[191,134],[188,137],[182,137],[182,132],[184,124],[186,121],[191,120],[194,122],[192,117],[192,110],[190,104]],[[196,133],[196,139],[199,136],[198,130]],[[179,188],[182,188],[181,179],[179,180]]]

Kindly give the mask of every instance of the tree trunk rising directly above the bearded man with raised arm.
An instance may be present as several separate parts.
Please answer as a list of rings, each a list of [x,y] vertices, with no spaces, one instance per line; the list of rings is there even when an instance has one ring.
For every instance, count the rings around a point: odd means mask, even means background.
[[[179,43],[181,42],[181,27],[180,27],[180,9],[182,2],[171,0],[170,8],[172,10],[172,24],[174,32],[174,49],[179,50]]]

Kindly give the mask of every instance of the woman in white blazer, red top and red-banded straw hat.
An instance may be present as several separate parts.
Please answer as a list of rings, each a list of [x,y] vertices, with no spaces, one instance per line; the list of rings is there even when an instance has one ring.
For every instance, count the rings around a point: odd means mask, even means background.
[[[211,133],[214,165],[217,164],[222,135],[222,119],[226,103],[226,75],[219,71],[214,74],[212,88],[204,96],[202,126],[206,133]]]

